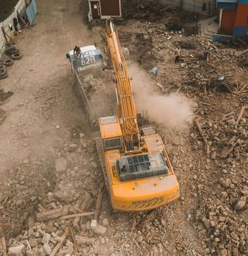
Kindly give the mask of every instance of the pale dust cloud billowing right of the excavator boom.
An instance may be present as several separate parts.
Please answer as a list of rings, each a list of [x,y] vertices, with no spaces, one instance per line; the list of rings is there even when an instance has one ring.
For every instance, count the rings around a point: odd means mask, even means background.
[[[156,81],[137,64],[128,63],[137,113],[171,130],[187,130],[193,122],[193,102],[184,95],[154,92]],[[165,85],[166,86],[166,85]],[[159,88],[158,88],[159,89]]]

